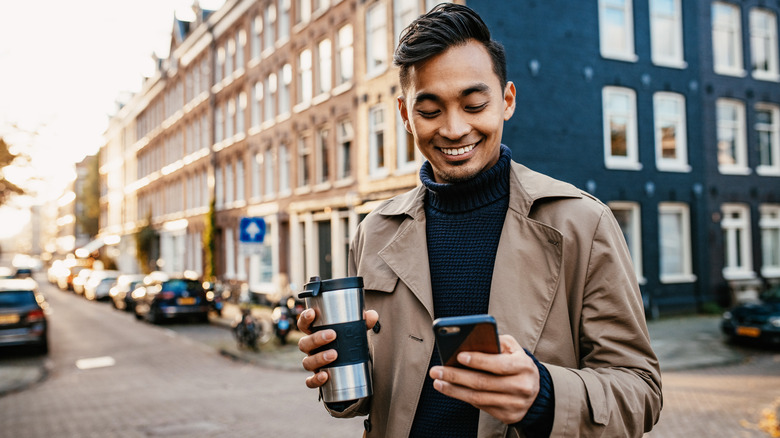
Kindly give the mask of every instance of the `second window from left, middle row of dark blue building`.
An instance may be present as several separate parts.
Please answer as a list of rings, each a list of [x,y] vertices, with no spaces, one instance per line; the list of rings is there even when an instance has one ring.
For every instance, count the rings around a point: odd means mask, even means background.
[[[685,97],[677,93],[655,93],[653,112],[656,166],[659,170],[689,172]]]

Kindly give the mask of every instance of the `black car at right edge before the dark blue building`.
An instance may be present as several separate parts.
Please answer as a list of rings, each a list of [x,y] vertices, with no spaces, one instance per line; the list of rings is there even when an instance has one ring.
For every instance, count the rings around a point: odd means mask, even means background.
[[[732,339],[752,339],[780,345],[780,286],[723,314],[720,328]]]

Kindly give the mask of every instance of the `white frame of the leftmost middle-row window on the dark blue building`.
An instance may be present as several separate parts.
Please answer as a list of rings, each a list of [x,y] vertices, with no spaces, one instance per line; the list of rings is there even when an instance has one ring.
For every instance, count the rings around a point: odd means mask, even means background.
[[[627,108],[613,111],[613,99],[624,98]],[[604,87],[602,90],[603,134],[604,134],[604,164],[608,169],[641,170],[639,162],[639,139],[637,136],[636,91],[624,87]],[[623,117],[626,119],[626,155],[612,155],[612,120]]]

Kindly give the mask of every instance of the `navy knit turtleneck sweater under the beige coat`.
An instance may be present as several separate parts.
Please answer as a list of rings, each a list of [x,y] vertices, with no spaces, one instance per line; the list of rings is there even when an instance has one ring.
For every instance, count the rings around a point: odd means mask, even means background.
[[[458,184],[434,182],[428,162],[420,170],[428,189],[425,215],[435,318],[488,312],[496,250],[509,206],[511,159],[511,151],[502,145],[495,166]],[[547,369],[534,362],[542,389],[520,425],[531,436],[546,436],[553,419],[552,381]],[[440,364],[434,350],[429,369]],[[426,375],[409,436],[476,437],[478,421],[477,408],[436,391]]]

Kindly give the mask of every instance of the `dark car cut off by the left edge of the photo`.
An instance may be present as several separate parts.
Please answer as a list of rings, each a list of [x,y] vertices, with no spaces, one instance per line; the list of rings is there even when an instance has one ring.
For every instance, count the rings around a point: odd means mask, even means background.
[[[32,278],[0,280],[0,346],[31,345],[47,353],[46,307]]]

